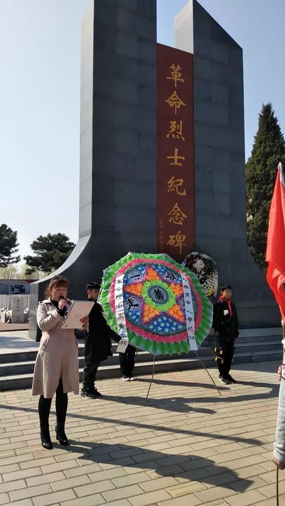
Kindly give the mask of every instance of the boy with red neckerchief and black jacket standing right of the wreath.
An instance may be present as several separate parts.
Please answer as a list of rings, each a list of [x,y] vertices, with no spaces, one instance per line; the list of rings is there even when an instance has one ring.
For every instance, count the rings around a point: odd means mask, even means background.
[[[220,299],[214,304],[213,330],[217,336],[217,364],[219,381],[225,385],[236,383],[230,375],[234,343],[238,338],[238,318],[235,305],[231,301],[232,290],[226,284],[220,288]]]

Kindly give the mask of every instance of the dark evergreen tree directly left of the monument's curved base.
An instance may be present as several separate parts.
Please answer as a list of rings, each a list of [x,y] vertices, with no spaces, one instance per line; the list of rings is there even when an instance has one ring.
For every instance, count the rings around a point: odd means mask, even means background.
[[[51,273],[58,269],[69,257],[75,244],[65,234],[40,235],[31,243],[34,256],[24,257],[27,265],[26,274],[36,271]]]

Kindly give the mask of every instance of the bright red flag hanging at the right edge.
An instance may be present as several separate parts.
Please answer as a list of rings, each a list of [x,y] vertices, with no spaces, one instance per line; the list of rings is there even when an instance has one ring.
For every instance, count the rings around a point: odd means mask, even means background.
[[[285,325],[285,184],[281,163],[269,213],[266,262],[267,283],[274,293]]]

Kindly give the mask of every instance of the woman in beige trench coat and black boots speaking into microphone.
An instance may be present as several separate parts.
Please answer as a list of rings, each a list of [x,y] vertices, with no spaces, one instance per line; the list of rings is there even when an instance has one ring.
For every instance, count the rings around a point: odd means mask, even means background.
[[[49,431],[49,415],[52,398],[56,393],[56,439],[67,445],[64,425],[67,411],[67,392],[79,393],[78,343],[74,329],[63,329],[61,325],[71,302],[67,297],[67,280],[62,276],[51,279],[46,290],[47,300],[39,302],[36,320],[42,330],[42,339],[34,366],[32,395],[39,395],[38,414],[40,439],[44,448],[53,445]],[[80,322],[83,328],[88,316]]]

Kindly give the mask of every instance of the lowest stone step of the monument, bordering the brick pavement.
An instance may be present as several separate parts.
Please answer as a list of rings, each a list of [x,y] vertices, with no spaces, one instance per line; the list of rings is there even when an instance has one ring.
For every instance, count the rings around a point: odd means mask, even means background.
[[[216,367],[216,363],[213,360],[213,355],[203,357],[203,364],[206,367]],[[275,361],[280,358],[280,351],[267,350],[267,351],[255,351],[255,352],[243,352],[237,353],[234,356],[234,364],[251,363],[251,362],[268,362]],[[155,362],[155,372],[167,372],[175,370],[187,370],[201,368],[203,365],[197,358],[180,358],[169,360],[158,360]],[[153,370],[152,362],[139,362],[135,367],[136,376],[143,374],[151,374]],[[82,380],[83,368],[79,369],[80,381]],[[97,378],[105,379],[110,377],[120,377],[121,372],[119,364],[102,366],[98,370]],[[29,374],[14,374],[0,377],[0,391],[5,390],[17,390],[22,388],[30,388],[32,385],[32,373]]]

